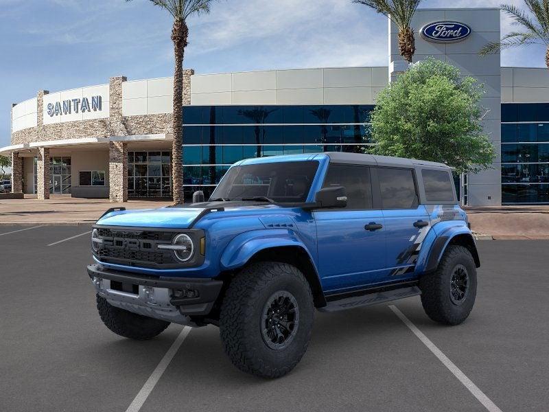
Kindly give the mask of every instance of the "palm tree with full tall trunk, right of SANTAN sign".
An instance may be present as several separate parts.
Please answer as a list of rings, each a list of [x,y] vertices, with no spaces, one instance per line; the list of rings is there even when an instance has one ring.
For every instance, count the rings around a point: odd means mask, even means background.
[[[131,1],[131,0],[126,0]],[[174,42],[174,114],[172,142],[172,185],[174,187],[174,204],[183,203],[183,56],[189,27],[187,19],[194,14],[209,13],[210,5],[215,0],[150,0],[174,18],[172,26],[172,41]]]

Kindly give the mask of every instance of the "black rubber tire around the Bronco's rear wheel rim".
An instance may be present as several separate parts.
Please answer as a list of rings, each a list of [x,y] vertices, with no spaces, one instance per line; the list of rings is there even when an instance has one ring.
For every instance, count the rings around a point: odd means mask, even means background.
[[[468,290],[460,304],[454,304],[450,297],[452,273],[458,265],[463,265],[468,275]],[[467,317],[476,298],[476,266],[471,252],[466,247],[451,244],[436,268],[436,271],[419,279],[421,304],[425,313],[433,321],[446,325],[459,325]]]

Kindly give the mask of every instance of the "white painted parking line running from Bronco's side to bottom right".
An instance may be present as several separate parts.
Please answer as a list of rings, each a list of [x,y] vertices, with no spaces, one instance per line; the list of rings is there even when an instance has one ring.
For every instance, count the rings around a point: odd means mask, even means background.
[[[469,392],[471,392],[473,396],[477,398],[478,402],[483,404],[484,407],[490,412],[502,412],[502,410],[495,406],[495,403],[493,403],[490,398],[488,398],[488,396],[484,395],[484,392],[478,389],[473,381],[467,378],[467,376],[465,376],[465,374],[456,365],[454,365],[454,363],[450,361],[448,357],[443,354],[443,352],[438,347],[436,347],[434,343],[432,343],[432,341],[430,341],[430,339],[425,336],[423,332],[421,332],[421,330],[419,330],[417,326],[414,325],[404,313],[399,310],[399,308],[397,308],[395,305],[389,305],[389,308],[390,310],[393,310],[393,312],[395,312],[397,317],[399,317],[406,326],[408,326],[408,329],[414,332],[414,335],[416,335],[417,338],[421,342],[423,342],[423,345],[427,346],[428,349],[434,354],[434,356],[439,358],[439,361],[441,361],[443,365],[447,367],[449,371],[451,371],[452,374],[454,374],[454,376],[456,376],[456,378],[458,378],[458,380],[463,383],[463,385],[467,389],[469,389]]]

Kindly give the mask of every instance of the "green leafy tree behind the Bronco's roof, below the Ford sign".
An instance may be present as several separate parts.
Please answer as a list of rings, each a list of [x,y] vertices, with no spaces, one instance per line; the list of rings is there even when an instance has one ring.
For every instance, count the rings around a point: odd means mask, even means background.
[[[483,93],[476,79],[460,78],[446,62],[416,63],[377,95],[369,152],[438,161],[457,173],[491,168],[495,152],[482,135]]]

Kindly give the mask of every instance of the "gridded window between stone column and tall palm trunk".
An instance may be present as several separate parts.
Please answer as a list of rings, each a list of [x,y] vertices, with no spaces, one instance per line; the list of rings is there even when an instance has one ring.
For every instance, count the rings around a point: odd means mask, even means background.
[[[128,152],[128,197],[171,197],[172,153]]]

